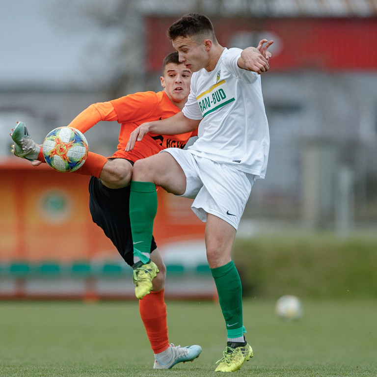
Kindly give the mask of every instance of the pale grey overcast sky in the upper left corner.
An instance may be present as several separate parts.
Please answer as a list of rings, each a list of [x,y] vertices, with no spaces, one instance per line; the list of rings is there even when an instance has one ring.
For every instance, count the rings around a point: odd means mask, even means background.
[[[59,22],[58,1],[2,0],[0,84],[84,80],[91,36]]]

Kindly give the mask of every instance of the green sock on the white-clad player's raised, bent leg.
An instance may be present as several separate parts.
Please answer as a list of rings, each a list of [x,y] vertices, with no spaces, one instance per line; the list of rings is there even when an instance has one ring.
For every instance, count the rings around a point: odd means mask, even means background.
[[[157,213],[157,191],[152,182],[131,182],[130,220],[134,241],[134,263],[150,261],[153,221]]]

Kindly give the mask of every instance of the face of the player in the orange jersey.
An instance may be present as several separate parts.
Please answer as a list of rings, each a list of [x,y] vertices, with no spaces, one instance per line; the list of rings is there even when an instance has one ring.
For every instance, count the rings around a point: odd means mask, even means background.
[[[183,64],[167,63],[161,85],[174,103],[186,103],[190,93],[191,71]]]

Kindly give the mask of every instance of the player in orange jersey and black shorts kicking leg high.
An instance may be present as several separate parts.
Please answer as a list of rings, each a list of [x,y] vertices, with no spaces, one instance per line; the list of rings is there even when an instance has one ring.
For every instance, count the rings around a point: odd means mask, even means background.
[[[68,125],[82,133],[99,121],[117,121],[121,125],[117,151],[110,158],[89,152],[84,165],[75,173],[91,176],[89,209],[93,221],[104,230],[130,266],[138,266],[139,263],[133,256],[129,216],[129,185],[133,164],[136,160],[154,155],[167,147],[183,148],[189,137],[196,135],[196,131],[182,135],[148,134],[131,152],[125,151],[127,140],[138,125],[165,119],[178,113],[186,103],[190,78],[191,72],[179,62],[178,53],[171,53],[163,61],[162,91],[139,92],[90,105]],[[42,148],[31,139],[23,122],[18,122],[11,136],[15,142],[12,147],[16,156],[35,160],[32,162],[35,166],[44,162]],[[157,269],[143,269],[141,273],[138,269],[138,276],[134,279],[135,291],[143,273],[146,275],[152,273],[156,276],[153,279],[151,294],[139,300],[139,310],[155,354],[153,367],[170,369],[179,362],[192,361],[198,357],[201,348],[196,345],[175,347],[169,344],[163,289],[166,268],[153,238],[151,260]]]

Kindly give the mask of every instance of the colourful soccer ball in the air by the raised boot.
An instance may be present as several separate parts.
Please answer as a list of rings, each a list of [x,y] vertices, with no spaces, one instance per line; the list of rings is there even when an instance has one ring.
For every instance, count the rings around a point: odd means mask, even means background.
[[[79,169],[88,155],[85,136],[72,127],[58,127],[43,142],[45,161],[55,170],[70,172]]]

